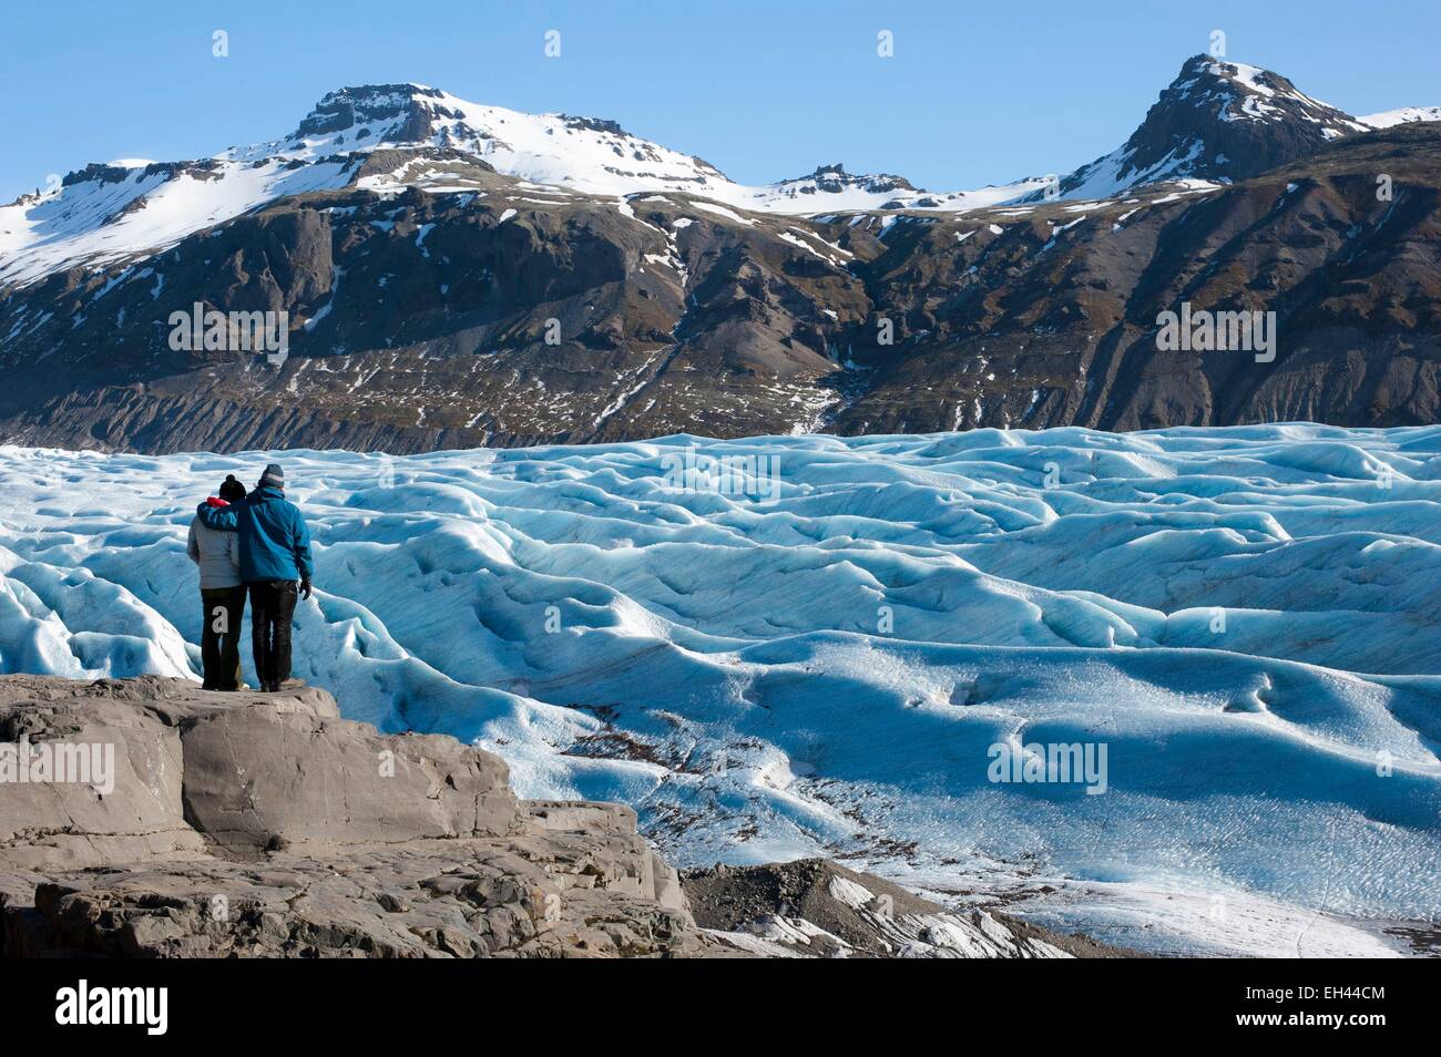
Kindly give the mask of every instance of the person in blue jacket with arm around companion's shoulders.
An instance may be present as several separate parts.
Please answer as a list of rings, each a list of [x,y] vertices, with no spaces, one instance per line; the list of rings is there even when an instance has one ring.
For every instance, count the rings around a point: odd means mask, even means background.
[[[314,566],[310,530],[300,507],[285,500],[285,471],[265,467],[255,490],[228,507],[202,503],[196,517],[218,531],[241,536],[241,580],[251,593],[251,649],[261,690],[290,681],[290,622],[300,598],[310,598]]]

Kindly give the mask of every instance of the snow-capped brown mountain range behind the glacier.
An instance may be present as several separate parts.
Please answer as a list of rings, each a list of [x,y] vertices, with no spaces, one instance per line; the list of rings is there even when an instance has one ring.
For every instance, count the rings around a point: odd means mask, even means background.
[[[1431,422],[1438,160],[1441,125],[1205,56],[1059,200],[839,164],[746,187],[612,121],[346,88],[280,140],[0,210],[0,442]],[[1274,361],[1159,354],[1182,302],[1277,312]],[[196,305],[284,312],[285,356],[173,341]]]

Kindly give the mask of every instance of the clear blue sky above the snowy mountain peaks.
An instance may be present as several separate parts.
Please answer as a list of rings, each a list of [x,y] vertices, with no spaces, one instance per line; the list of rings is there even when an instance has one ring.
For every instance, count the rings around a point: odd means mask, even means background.
[[[3,14],[0,202],[86,161],[278,138],[378,81],[615,118],[746,183],[844,161],[976,187],[1111,150],[1213,29],[1343,109],[1441,105],[1441,0],[32,1]]]

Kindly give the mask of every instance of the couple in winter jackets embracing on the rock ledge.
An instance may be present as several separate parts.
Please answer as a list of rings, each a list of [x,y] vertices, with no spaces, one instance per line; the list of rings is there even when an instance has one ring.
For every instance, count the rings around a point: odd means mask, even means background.
[[[186,553],[200,567],[205,606],[200,660],[206,690],[241,688],[241,619],[251,598],[251,649],[261,690],[290,678],[290,622],[298,595],[310,598],[310,530],[285,500],[285,471],[265,467],[259,484],[226,475],[220,494],[196,508]]]

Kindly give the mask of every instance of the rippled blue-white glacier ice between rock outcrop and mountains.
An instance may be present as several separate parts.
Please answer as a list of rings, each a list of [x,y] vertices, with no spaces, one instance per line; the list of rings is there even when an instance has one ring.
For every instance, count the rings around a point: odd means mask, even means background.
[[[1441,428],[0,448],[0,671],[195,678],[186,526],[272,458],[317,546],[298,675],[682,863],[827,854],[1156,950],[1386,953],[1441,912]],[[1107,791],[993,783],[1000,743],[1104,743]]]

